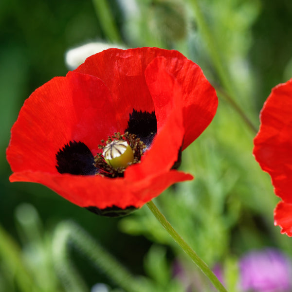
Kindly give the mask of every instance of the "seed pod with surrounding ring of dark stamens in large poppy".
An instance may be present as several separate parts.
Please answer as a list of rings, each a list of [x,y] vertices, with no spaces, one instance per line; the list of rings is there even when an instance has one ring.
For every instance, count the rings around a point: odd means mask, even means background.
[[[123,177],[126,168],[141,161],[146,145],[134,134],[115,133],[98,146],[102,149],[94,157],[96,174],[111,178]]]

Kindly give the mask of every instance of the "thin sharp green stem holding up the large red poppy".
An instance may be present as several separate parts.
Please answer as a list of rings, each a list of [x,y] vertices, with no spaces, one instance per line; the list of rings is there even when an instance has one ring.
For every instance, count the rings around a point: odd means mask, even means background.
[[[183,251],[194,261],[194,263],[198,266],[198,268],[209,278],[214,287],[219,292],[227,292],[221,282],[218,280],[216,275],[212,272],[212,270],[208,267],[208,265],[193,251],[193,249],[184,241],[183,237],[181,237],[175,229],[171,226],[171,224],[166,220],[164,215],[159,211],[153,201],[149,201],[147,203],[148,208],[156,217],[156,219],[162,224],[164,229],[168,232],[168,234],[176,241],[176,243],[183,249]]]

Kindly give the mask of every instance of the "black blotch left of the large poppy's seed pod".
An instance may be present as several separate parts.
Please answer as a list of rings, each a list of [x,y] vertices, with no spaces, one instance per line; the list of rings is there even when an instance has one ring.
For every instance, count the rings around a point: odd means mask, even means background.
[[[56,159],[59,173],[94,175],[96,172],[94,157],[82,142],[70,141],[57,152]]]

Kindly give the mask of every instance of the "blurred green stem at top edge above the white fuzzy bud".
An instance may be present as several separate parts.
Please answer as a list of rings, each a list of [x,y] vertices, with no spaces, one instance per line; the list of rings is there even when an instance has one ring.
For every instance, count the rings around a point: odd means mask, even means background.
[[[113,43],[120,43],[122,40],[107,0],[92,0],[92,3],[106,37]]]

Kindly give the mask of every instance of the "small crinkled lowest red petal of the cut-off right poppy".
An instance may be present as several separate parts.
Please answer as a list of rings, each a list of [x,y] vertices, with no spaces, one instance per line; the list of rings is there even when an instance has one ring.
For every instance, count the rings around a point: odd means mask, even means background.
[[[281,233],[292,237],[292,204],[279,202],[274,210],[274,224],[281,227]]]

